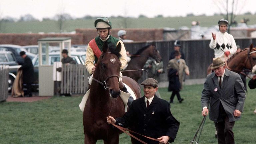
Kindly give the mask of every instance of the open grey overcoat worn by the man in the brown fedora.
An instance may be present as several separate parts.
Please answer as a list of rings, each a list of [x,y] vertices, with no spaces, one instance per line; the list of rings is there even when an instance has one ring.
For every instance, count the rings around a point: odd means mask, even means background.
[[[225,109],[229,122],[240,119],[241,116],[234,117],[234,111],[237,109],[243,112],[244,101],[245,89],[239,74],[225,69],[221,89],[219,87],[218,77],[214,72],[206,77],[202,91],[201,105],[202,108],[205,106],[208,107],[210,120],[218,122],[220,102]]]

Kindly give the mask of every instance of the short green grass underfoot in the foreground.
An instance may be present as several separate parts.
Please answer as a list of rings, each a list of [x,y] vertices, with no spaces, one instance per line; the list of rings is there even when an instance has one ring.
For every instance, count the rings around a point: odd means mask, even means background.
[[[185,86],[179,104],[175,97],[171,112],[180,121],[180,128],[174,144],[189,144],[202,121],[200,97],[203,85]],[[167,88],[160,88],[163,99],[169,100]],[[242,119],[233,128],[235,142],[255,144],[256,89],[248,90]],[[1,144],[82,144],[82,112],[78,104],[82,97],[52,97],[51,99],[24,103],[0,103],[0,143]],[[200,144],[216,144],[214,123],[205,122]],[[120,135],[120,144],[130,143],[130,138]],[[97,144],[103,144],[98,141]]]

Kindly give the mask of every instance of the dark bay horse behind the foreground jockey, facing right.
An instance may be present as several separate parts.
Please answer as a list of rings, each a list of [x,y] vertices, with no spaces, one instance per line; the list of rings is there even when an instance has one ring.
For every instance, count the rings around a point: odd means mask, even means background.
[[[147,45],[137,51],[137,53],[131,56],[131,61],[129,62],[125,70],[140,70],[143,69],[147,59],[152,57],[157,62],[161,62],[162,57],[160,56],[159,51],[157,50],[155,44]],[[128,76],[134,79],[136,82],[140,79],[143,72],[142,71],[125,71],[122,72],[123,76]]]

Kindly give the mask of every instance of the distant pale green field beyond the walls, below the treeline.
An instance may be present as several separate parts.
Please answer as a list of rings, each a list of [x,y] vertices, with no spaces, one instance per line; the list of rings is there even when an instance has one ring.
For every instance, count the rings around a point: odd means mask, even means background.
[[[180,26],[191,27],[192,21],[200,21],[201,26],[217,25],[222,16],[189,16],[189,17],[162,17],[162,18],[127,18],[127,28],[176,28]],[[256,24],[256,15],[237,15],[236,21],[249,18],[248,24]],[[95,19],[87,20],[69,20],[64,22],[64,31],[71,32],[77,28],[94,28]],[[111,18],[113,28],[124,28],[123,18]],[[38,32],[59,32],[56,21],[42,22],[16,22],[3,23],[1,33],[38,33]]]

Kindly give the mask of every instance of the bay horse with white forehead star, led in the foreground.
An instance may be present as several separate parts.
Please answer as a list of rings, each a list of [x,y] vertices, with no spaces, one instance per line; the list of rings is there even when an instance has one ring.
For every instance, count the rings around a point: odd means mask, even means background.
[[[122,117],[125,113],[118,85],[121,67],[120,50],[120,43],[117,46],[107,43],[103,45],[103,52],[98,59],[83,112],[85,144],[95,144],[100,139],[104,144],[119,143],[121,131],[108,124],[106,117],[109,114],[113,117]],[[130,86],[137,98],[141,97],[141,89],[136,81],[123,77],[123,82]]]

